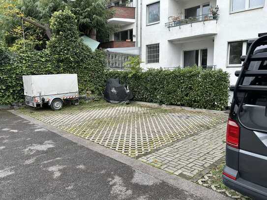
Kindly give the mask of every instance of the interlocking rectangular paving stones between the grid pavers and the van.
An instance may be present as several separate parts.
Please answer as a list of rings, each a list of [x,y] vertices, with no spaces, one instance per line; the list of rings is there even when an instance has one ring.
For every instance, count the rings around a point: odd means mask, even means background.
[[[189,179],[225,155],[226,124],[139,158],[139,160]]]

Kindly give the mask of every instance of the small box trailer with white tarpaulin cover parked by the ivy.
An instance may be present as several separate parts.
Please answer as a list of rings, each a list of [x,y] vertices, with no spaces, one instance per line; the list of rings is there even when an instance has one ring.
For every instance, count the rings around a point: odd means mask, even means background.
[[[32,107],[48,104],[56,111],[64,101],[79,103],[77,74],[23,76],[23,85],[26,105]]]

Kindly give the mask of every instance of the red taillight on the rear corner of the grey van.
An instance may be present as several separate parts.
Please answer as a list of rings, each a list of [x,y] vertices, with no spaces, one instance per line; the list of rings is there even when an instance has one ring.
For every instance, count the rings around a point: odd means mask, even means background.
[[[229,118],[226,132],[226,143],[229,146],[239,148],[239,136],[240,127],[235,120]]]

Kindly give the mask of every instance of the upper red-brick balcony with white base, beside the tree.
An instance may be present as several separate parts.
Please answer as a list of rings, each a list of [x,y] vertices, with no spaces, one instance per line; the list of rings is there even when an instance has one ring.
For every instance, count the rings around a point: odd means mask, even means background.
[[[108,23],[121,26],[135,23],[135,7],[111,6],[108,9],[114,11],[114,15],[108,19]]]

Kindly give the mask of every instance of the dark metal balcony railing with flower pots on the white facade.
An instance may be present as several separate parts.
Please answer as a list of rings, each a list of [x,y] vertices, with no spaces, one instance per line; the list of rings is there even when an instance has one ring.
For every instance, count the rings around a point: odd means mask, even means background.
[[[180,27],[182,25],[186,25],[186,24],[192,24],[193,23],[197,23],[197,22],[203,22],[205,24],[206,21],[210,21],[210,20],[216,20],[216,23],[219,20],[219,14],[205,14],[205,15],[199,15],[196,17],[189,17],[188,19],[183,19],[183,20],[177,20],[177,21],[173,21],[173,22],[168,22],[165,24],[165,26],[170,29],[173,27]]]

